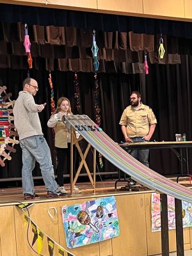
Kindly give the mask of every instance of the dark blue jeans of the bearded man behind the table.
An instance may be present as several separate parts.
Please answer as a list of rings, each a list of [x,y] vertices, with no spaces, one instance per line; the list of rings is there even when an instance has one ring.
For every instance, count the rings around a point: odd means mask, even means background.
[[[133,142],[145,142],[144,139],[142,139],[142,137],[134,137],[131,138],[131,140]],[[144,164],[145,166],[149,166],[148,164],[148,149],[134,149],[134,150],[128,150],[127,151],[132,157],[134,157],[135,159],[137,159],[138,161],[140,161],[142,164]]]

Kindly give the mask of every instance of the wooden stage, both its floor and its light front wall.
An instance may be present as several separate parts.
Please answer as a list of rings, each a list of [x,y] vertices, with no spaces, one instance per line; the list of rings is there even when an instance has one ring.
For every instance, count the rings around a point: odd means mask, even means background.
[[[39,200],[24,200],[21,188],[0,189],[0,256],[35,256],[30,247],[34,234],[29,225],[24,227],[24,214],[17,204],[34,203],[28,208],[30,219],[49,236],[52,241],[76,256],[149,256],[161,253],[161,232],[152,232],[151,223],[151,190],[121,191],[125,182],[118,183],[115,190],[115,180],[97,182],[96,192],[93,193],[91,184],[81,183],[78,187],[81,194],[68,195],[65,198],[46,198],[45,187],[36,187],[36,193],[41,195]],[[66,185],[67,191],[70,184]],[[78,248],[68,249],[61,216],[63,205],[81,204],[106,196],[115,196],[120,236],[99,243],[93,243]],[[55,210],[56,209],[56,210]],[[50,213],[52,217],[50,216]],[[28,244],[29,240],[29,244]],[[169,231],[170,252],[175,252],[175,230]],[[138,246],[139,245],[139,246]],[[184,250],[192,248],[192,228],[184,228]],[[37,250],[36,243],[33,249]],[[49,256],[47,237],[41,255]],[[54,248],[52,256],[58,253]],[[64,254],[63,254],[64,255]]]

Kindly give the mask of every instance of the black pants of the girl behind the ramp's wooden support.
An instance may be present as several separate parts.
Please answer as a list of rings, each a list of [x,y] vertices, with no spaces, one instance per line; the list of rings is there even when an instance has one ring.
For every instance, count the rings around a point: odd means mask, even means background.
[[[74,176],[76,175],[76,147],[74,146],[74,156],[73,156],[73,164],[74,164]],[[63,174],[70,174],[70,143],[68,143],[68,148],[57,148],[56,154],[58,158],[58,167],[57,167],[57,175],[58,175],[58,185],[63,186]]]

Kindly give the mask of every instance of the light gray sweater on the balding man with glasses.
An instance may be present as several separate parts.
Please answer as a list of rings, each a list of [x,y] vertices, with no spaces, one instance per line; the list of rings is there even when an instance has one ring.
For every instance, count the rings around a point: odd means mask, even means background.
[[[19,97],[13,108],[14,124],[19,134],[19,140],[43,134],[38,116],[38,106],[31,93],[19,92]]]

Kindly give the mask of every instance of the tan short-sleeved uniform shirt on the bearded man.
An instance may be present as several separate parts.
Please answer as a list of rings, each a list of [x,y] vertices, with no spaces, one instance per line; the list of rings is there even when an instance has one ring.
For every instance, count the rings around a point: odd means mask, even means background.
[[[126,126],[129,138],[144,137],[148,135],[150,125],[157,124],[157,120],[152,109],[141,103],[138,109],[132,106],[125,108],[119,124]]]

